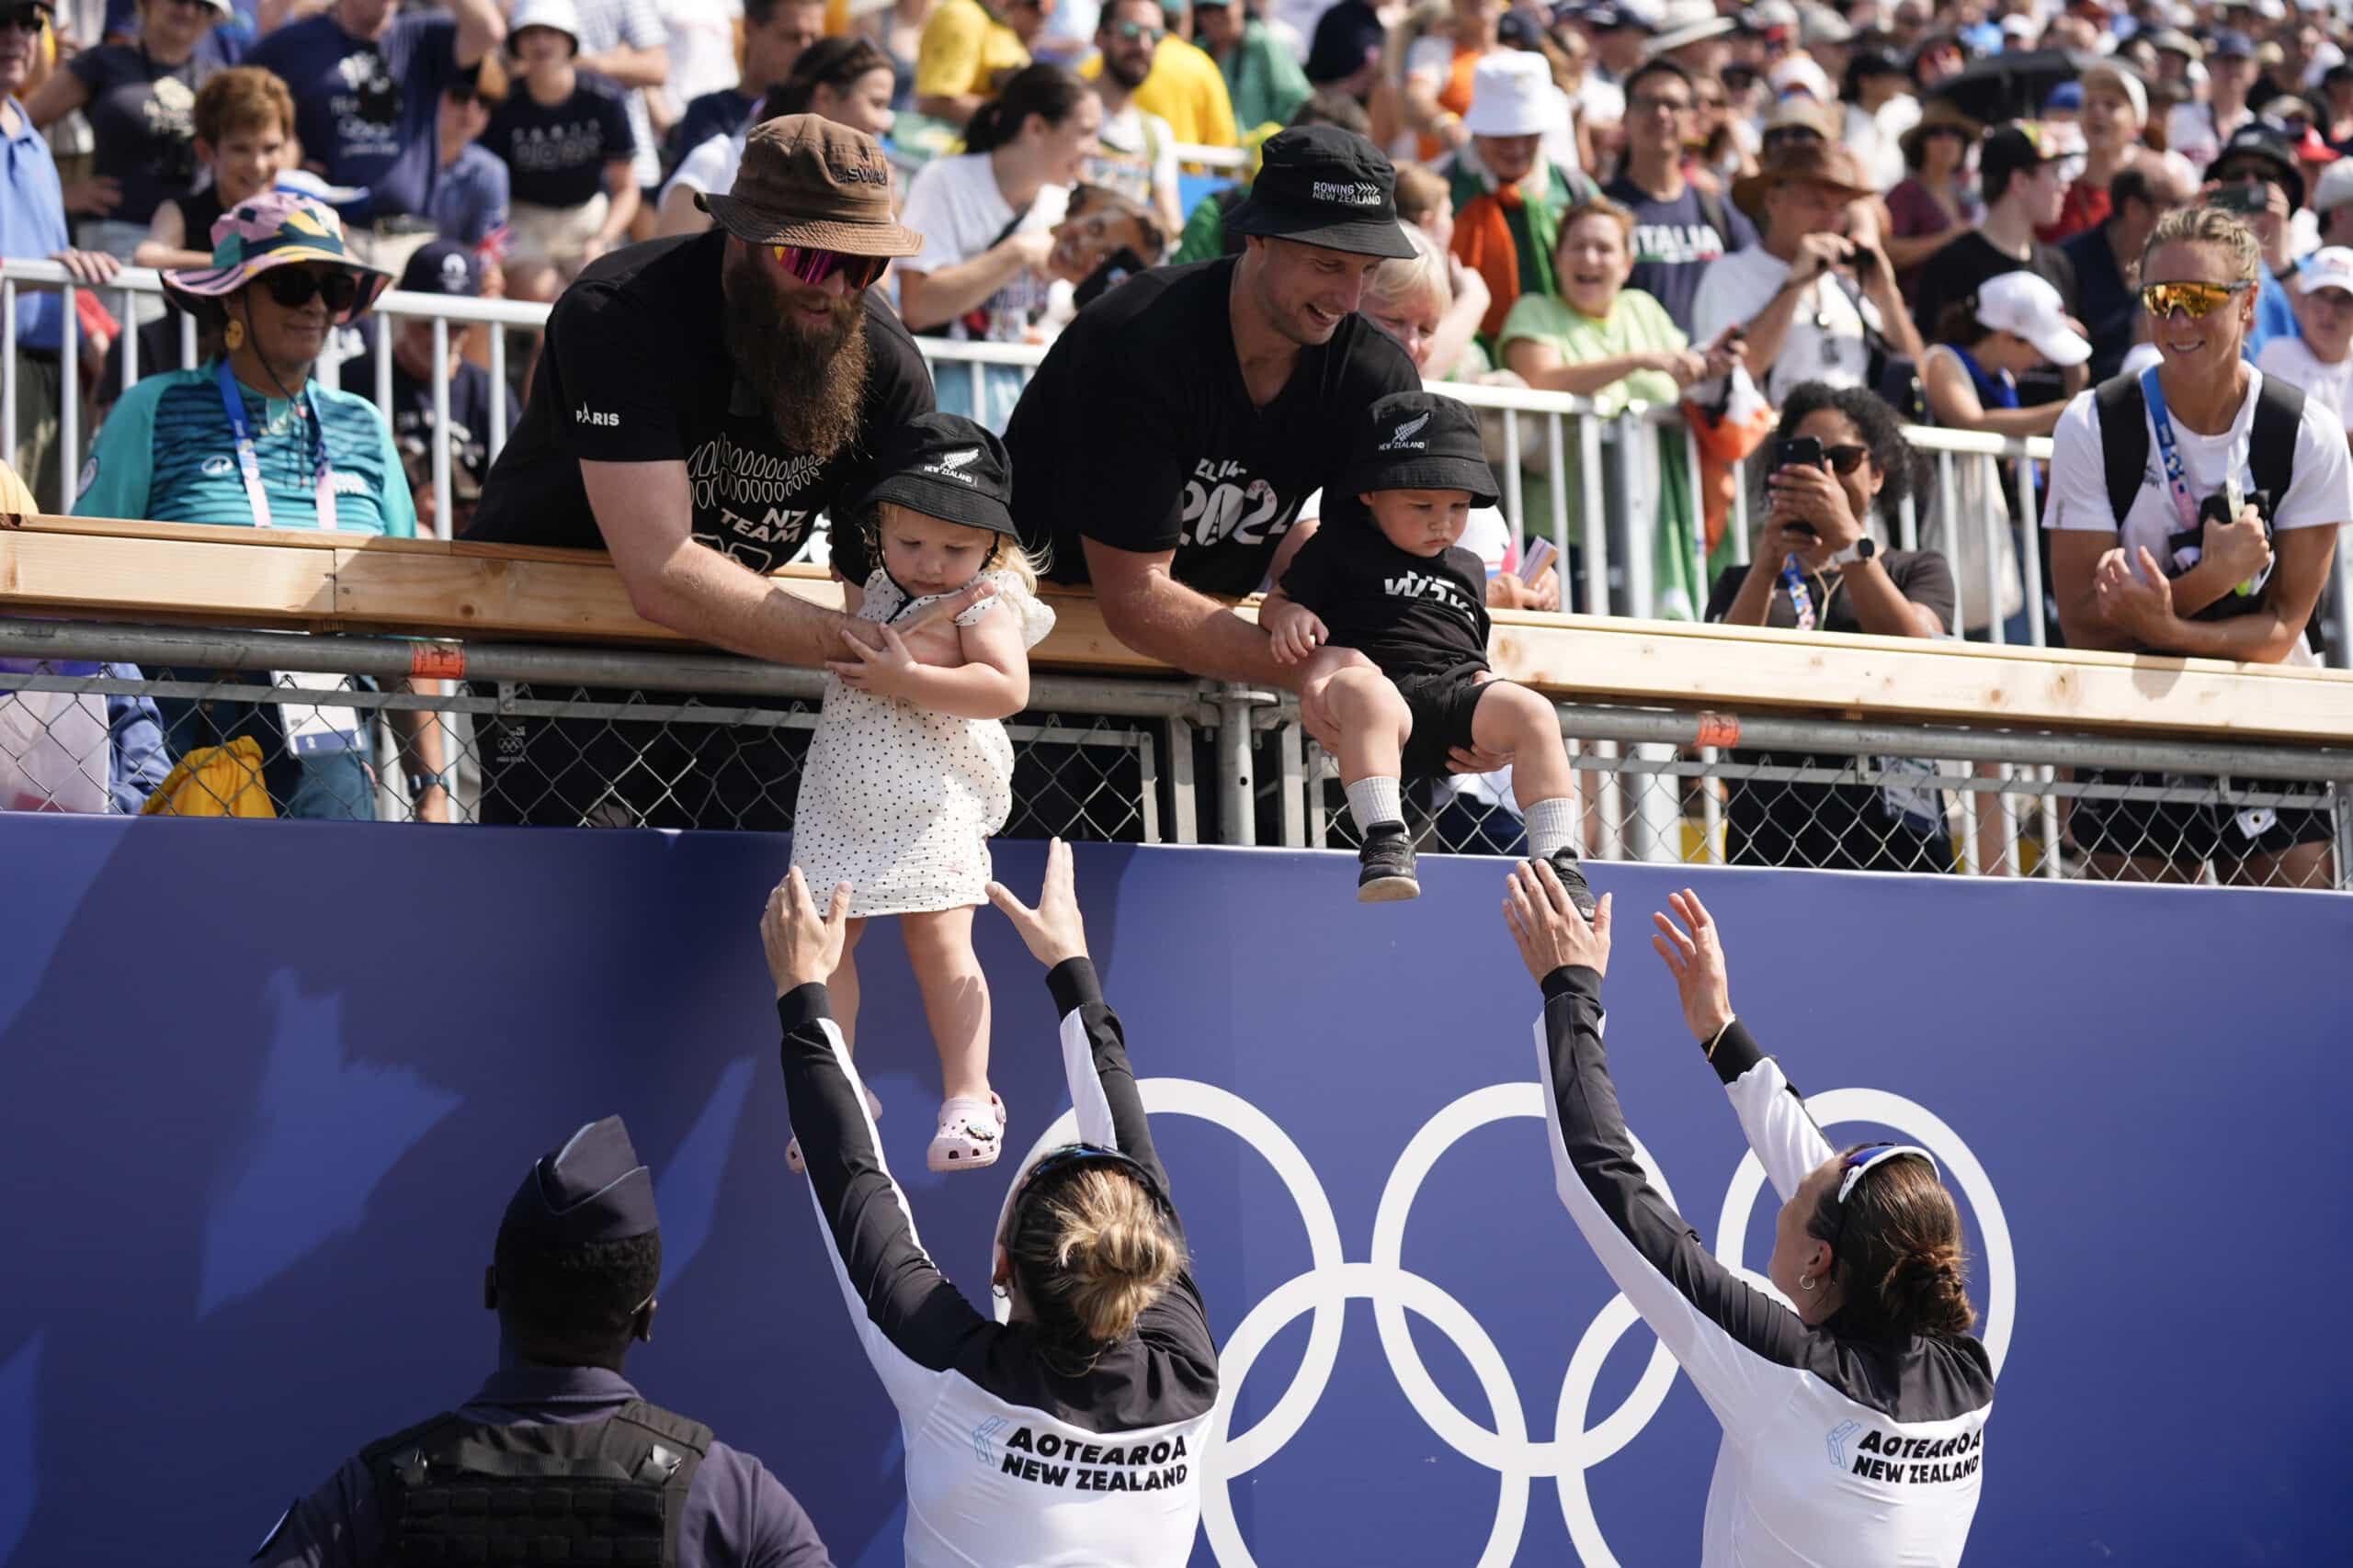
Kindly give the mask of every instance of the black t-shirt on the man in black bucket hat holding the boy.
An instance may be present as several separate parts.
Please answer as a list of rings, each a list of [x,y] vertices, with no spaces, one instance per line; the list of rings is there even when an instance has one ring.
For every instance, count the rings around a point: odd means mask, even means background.
[[[1014,522],[1052,548],[1049,576],[1087,581],[1082,538],[1155,555],[1179,583],[1259,588],[1299,505],[1327,489],[1374,400],[1421,388],[1395,339],[1362,315],[1299,350],[1292,378],[1254,409],[1233,353],[1233,259],[1153,268],[1078,313],[1021,393],[1005,447]]]

